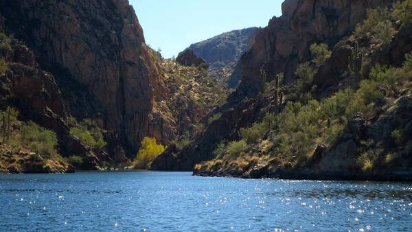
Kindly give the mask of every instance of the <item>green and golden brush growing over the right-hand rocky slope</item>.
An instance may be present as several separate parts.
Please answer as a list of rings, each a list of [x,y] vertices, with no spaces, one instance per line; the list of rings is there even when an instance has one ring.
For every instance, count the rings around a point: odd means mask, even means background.
[[[315,176],[321,170],[339,168],[341,172],[352,172],[353,176],[374,176],[382,170],[392,170],[399,159],[410,165],[412,159],[407,149],[411,141],[405,134],[411,131],[393,126],[409,125],[411,118],[391,124],[388,121],[396,115],[410,115],[403,108],[410,107],[408,102],[411,102],[412,54],[403,54],[400,67],[380,65],[374,58],[391,45],[392,36],[398,33],[396,28],[409,22],[411,2],[395,3],[391,9],[368,10],[367,19],[356,27],[354,36],[345,38],[351,44],[354,39],[369,38],[369,43],[374,44],[363,45],[356,51],[366,54],[365,59],[355,60],[356,70],[353,65],[347,68],[347,73],[351,70],[363,75],[356,87],[343,84],[352,81],[350,75],[345,75],[336,81],[339,88],[334,93],[313,99],[312,95],[319,94],[314,78],[332,53],[323,44],[310,46],[312,62],[297,66],[297,80],[286,86],[288,102],[282,111],[267,113],[260,122],[241,128],[238,131],[241,140],[219,143],[214,152],[216,159],[196,165],[195,173],[253,177],[295,170]],[[402,25],[395,27],[396,21]],[[369,67],[364,71],[366,62]],[[263,96],[271,94],[268,91]],[[410,125],[407,127],[410,130]],[[387,141],[387,137],[392,140]]]

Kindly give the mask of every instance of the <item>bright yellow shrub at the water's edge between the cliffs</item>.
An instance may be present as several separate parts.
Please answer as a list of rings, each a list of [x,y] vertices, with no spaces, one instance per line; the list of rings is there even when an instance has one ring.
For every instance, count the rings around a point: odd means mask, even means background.
[[[138,169],[149,169],[156,157],[165,150],[162,144],[157,143],[155,138],[145,137],[141,141],[141,147],[135,159],[135,167]]]

